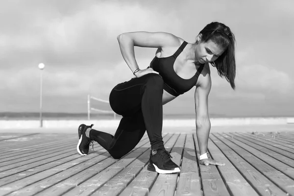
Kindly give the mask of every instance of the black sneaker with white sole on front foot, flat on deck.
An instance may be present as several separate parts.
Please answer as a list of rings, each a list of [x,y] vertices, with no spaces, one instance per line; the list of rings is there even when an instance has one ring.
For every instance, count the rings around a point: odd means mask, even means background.
[[[157,173],[180,172],[179,166],[173,163],[170,152],[161,148],[158,148],[155,150],[157,150],[157,153],[154,155],[152,155],[152,150],[150,152],[149,165],[147,167],[148,171],[157,172]]]

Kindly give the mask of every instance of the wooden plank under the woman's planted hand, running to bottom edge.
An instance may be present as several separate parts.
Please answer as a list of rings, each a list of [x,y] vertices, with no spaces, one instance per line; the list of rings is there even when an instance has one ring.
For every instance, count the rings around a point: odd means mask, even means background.
[[[196,134],[194,134],[194,141],[196,146],[197,160],[200,156],[199,154],[199,146],[196,138]],[[209,165],[200,165],[200,177],[202,182],[202,191],[204,196],[229,196],[229,192],[226,189],[226,186],[221,179],[221,175],[217,169],[217,166]]]

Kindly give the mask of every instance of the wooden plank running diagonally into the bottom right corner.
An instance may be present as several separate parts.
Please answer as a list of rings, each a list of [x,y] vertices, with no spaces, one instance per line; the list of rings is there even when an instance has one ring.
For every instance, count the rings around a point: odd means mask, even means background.
[[[261,172],[263,175],[265,175],[267,178],[270,179],[274,184],[276,184],[280,189],[282,189],[284,192],[289,194],[294,194],[294,187],[290,187],[294,184],[294,180],[287,177],[285,174],[283,174],[280,171],[277,171],[275,168],[271,167],[266,162],[260,160],[255,155],[249,153],[244,148],[239,147],[238,145],[231,142],[229,139],[231,137],[228,137],[224,135],[225,137],[222,137],[221,134],[218,134],[218,138],[225,142],[225,144],[228,147],[231,147],[236,151],[238,155],[240,155],[242,158],[244,158],[247,162],[249,162],[256,170]],[[226,138],[226,139],[225,139]],[[246,146],[246,149],[249,148],[249,146]]]

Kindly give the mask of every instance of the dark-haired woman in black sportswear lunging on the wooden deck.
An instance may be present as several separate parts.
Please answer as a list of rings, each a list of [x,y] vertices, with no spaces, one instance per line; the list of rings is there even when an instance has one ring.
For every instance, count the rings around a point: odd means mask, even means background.
[[[218,165],[208,150],[210,120],[208,95],[211,89],[209,63],[216,67],[235,89],[235,38],[230,28],[218,22],[206,25],[197,35],[196,43],[165,32],[129,32],[118,36],[125,62],[135,77],[118,84],[110,93],[110,105],[123,116],[115,135],[81,124],[78,128],[77,151],[86,155],[91,142],[96,141],[115,159],[131,151],[145,131],[151,144],[148,170],[158,173],[180,172],[165,150],[162,140],[162,105],[196,86],[196,135],[200,164]],[[140,69],[134,46],[157,48],[147,69]]]

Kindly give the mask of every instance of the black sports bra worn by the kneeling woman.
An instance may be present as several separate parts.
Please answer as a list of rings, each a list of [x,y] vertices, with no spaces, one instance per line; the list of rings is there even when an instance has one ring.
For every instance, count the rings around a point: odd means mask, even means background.
[[[204,67],[204,64],[201,64],[196,74],[190,79],[184,79],[174,72],[174,61],[187,44],[188,43],[184,41],[172,56],[164,58],[158,58],[155,56],[149,66],[154,71],[158,72],[163,78],[164,90],[175,97],[184,94],[195,86],[198,76]]]

